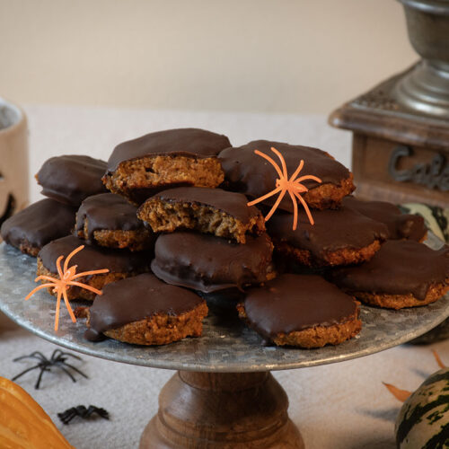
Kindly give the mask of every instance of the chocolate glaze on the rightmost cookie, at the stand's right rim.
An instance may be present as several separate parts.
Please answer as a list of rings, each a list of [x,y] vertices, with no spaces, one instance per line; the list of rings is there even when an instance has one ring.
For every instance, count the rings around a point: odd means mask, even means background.
[[[449,277],[449,246],[434,251],[423,243],[391,240],[358,267],[334,269],[329,278],[351,292],[412,294],[424,300],[434,284]]]

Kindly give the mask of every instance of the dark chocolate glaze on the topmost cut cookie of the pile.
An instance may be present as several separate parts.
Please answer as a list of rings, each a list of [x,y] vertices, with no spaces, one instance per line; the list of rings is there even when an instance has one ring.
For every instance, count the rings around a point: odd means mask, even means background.
[[[149,155],[183,155],[194,158],[213,157],[231,146],[226,136],[198,128],[158,131],[117,145],[108,161],[108,172],[119,164]]]

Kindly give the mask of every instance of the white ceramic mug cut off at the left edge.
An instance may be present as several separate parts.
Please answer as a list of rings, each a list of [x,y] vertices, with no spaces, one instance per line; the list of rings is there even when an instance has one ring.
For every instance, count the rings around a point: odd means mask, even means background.
[[[0,225],[28,204],[28,186],[27,119],[0,98]]]

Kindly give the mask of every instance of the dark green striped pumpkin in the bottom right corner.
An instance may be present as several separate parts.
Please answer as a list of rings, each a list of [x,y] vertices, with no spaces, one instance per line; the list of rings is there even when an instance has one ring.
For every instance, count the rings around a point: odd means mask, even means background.
[[[404,402],[395,433],[398,449],[449,448],[449,368],[428,377]]]

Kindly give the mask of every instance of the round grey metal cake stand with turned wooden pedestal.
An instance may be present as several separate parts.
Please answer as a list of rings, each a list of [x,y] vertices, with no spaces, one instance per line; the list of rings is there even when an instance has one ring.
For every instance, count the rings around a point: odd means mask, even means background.
[[[442,243],[430,235],[427,244],[438,248]],[[217,316],[207,317],[199,339],[161,347],[111,339],[93,343],[84,339],[84,322],[70,321],[63,304],[59,330],[53,330],[55,300],[46,292],[23,300],[36,286],[35,270],[35,259],[0,245],[0,310],[23,328],[89,356],[180,370],[163,387],[159,412],[145,427],[141,448],[304,448],[286,412],[286,392],[269,371],[374,354],[418,337],[449,316],[449,294],[401,311],[362,305],[360,334],[319,349],[266,347],[237,318]]]

